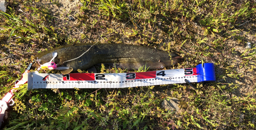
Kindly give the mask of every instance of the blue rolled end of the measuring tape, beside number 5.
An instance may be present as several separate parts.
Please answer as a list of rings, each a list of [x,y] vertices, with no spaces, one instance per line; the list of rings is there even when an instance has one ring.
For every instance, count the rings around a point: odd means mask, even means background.
[[[216,81],[214,63],[197,65],[198,83]]]

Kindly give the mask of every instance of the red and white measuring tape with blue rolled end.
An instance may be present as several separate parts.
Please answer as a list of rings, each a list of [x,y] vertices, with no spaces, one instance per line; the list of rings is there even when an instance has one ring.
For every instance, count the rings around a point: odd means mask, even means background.
[[[28,74],[28,90],[73,88],[129,88],[166,84],[216,81],[213,63],[199,64],[196,68],[157,70],[127,73],[69,73]]]

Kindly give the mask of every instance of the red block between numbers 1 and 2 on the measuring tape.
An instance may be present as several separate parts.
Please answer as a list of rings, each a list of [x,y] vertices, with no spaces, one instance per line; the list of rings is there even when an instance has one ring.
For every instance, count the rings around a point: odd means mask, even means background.
[[[63,81],[95,81],[94,73],[70,73],[63,76]]]

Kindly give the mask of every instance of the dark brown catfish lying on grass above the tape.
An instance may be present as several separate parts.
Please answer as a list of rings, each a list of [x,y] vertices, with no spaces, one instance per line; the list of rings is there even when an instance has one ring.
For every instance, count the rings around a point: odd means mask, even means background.
[[[115,63],[116,67],[123,69],[138,69],[146,65],[149,69],[160,69],[181,62],[181,57],[177,54],[169,54],[167,51],[154,48],[129,45],[129,44],[77,44],[63,45],[51,50],[43,51],[35,56],[40,64],[49,62],[52,59],[52,53],[58,53],[54,59],[56,64],[72,67],[73,71],[77,69],[87,69],[98,63]],[[92,47],[91,47],[92,46]],[[90,48],[91,47],[91,48]],[[82,55],[85,51],[90,50]],[[82,56],[81,56],[82,55]],[[74,58],[80,58],[65,62]],[[63,63],[65,62],[65,63]]]

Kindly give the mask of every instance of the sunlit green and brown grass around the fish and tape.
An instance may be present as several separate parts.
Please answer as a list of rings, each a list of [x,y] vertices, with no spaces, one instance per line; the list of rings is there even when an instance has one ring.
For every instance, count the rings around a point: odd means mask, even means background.
[[[62,6],[59,1],[50,3]],[[57,17],[47,4],[8,2],[7,12],[0,12],[1,98],[37,52],[74,42],[137,44],[175,52],[185,61],[169,69],[211,62],[218,82],[200,90],[179,84],[100,89],[89,96],[96,89],[26,91],[25,85],[15,95],[5,129],[255,128],[254,1],[80,3],[76,14],[70,11]],[[59,19],[71,14],[76,21],[63,20],[59,25]],[[252,43],[249,49],[245,48],[247,42]],[[147,66],[136,71],[148,71]],[[102,65],[98,72],[126,70]],[[181,101],[181,112],[161,106],[171,97]]]

